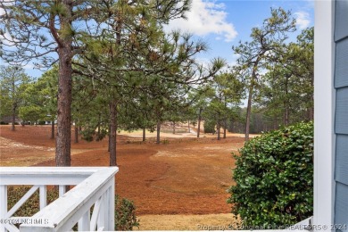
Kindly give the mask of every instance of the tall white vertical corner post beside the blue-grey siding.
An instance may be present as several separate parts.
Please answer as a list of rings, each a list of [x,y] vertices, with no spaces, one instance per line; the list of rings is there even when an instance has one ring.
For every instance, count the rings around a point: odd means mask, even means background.
[[[313,225],[334,224],[334,4],[315,1]]]

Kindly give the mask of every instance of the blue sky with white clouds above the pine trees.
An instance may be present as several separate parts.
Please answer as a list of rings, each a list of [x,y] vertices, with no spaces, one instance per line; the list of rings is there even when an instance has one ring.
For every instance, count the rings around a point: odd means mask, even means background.
[[[200,54],[202,62],[220,56],[228,64],[236,62],[232,46],[239,41],[248,41],[251,29],[260,26],[262,21],[269,17],[270,8],[282,7],[290,10],[297,20],[297,31],[294,38],[302,29],[313,26],[314,1],[312,0],[192,0],[192,8],[187,12],[187,21],[171,21],[166,27],[181,29],[193,33],[208,43],[210,49]],[[3,62],[0,61],[0,64]],[[25,67],[30,76],[38,77],[41,72],[33,70],[32,65]]]

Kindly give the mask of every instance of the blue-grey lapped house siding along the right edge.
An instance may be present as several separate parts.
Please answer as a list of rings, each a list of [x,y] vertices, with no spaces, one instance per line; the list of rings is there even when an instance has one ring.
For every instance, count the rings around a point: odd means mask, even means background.
[[[335,223],[348,226],[348,0],[335,4]]]

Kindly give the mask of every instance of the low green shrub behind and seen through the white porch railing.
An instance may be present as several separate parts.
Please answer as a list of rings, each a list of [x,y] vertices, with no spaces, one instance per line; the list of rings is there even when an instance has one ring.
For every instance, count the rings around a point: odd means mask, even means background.
[[[17,203],[23,195],[29,191],[29,186],[8,187],[8,209],[11,209],[15,203]],[[52,203],[58,198],[57,190],[47,191],[47,203]],[[93,209],[93,206],[92,206]],[[91,212],[92,212],[91,209]],[[15,217],[31,217],[39,211],[39,199],[38,191],[32,195],[21,208],[16,211],[13,216]],[[17,225],[19,226],[19,225]],[[115,195],[115,229],[116,230],[132,230],[134,227],[139,226],[139,221],[136,216],[136,207],[133,202],[128,199]],[[76,228],[76,227],[74,227]]]

